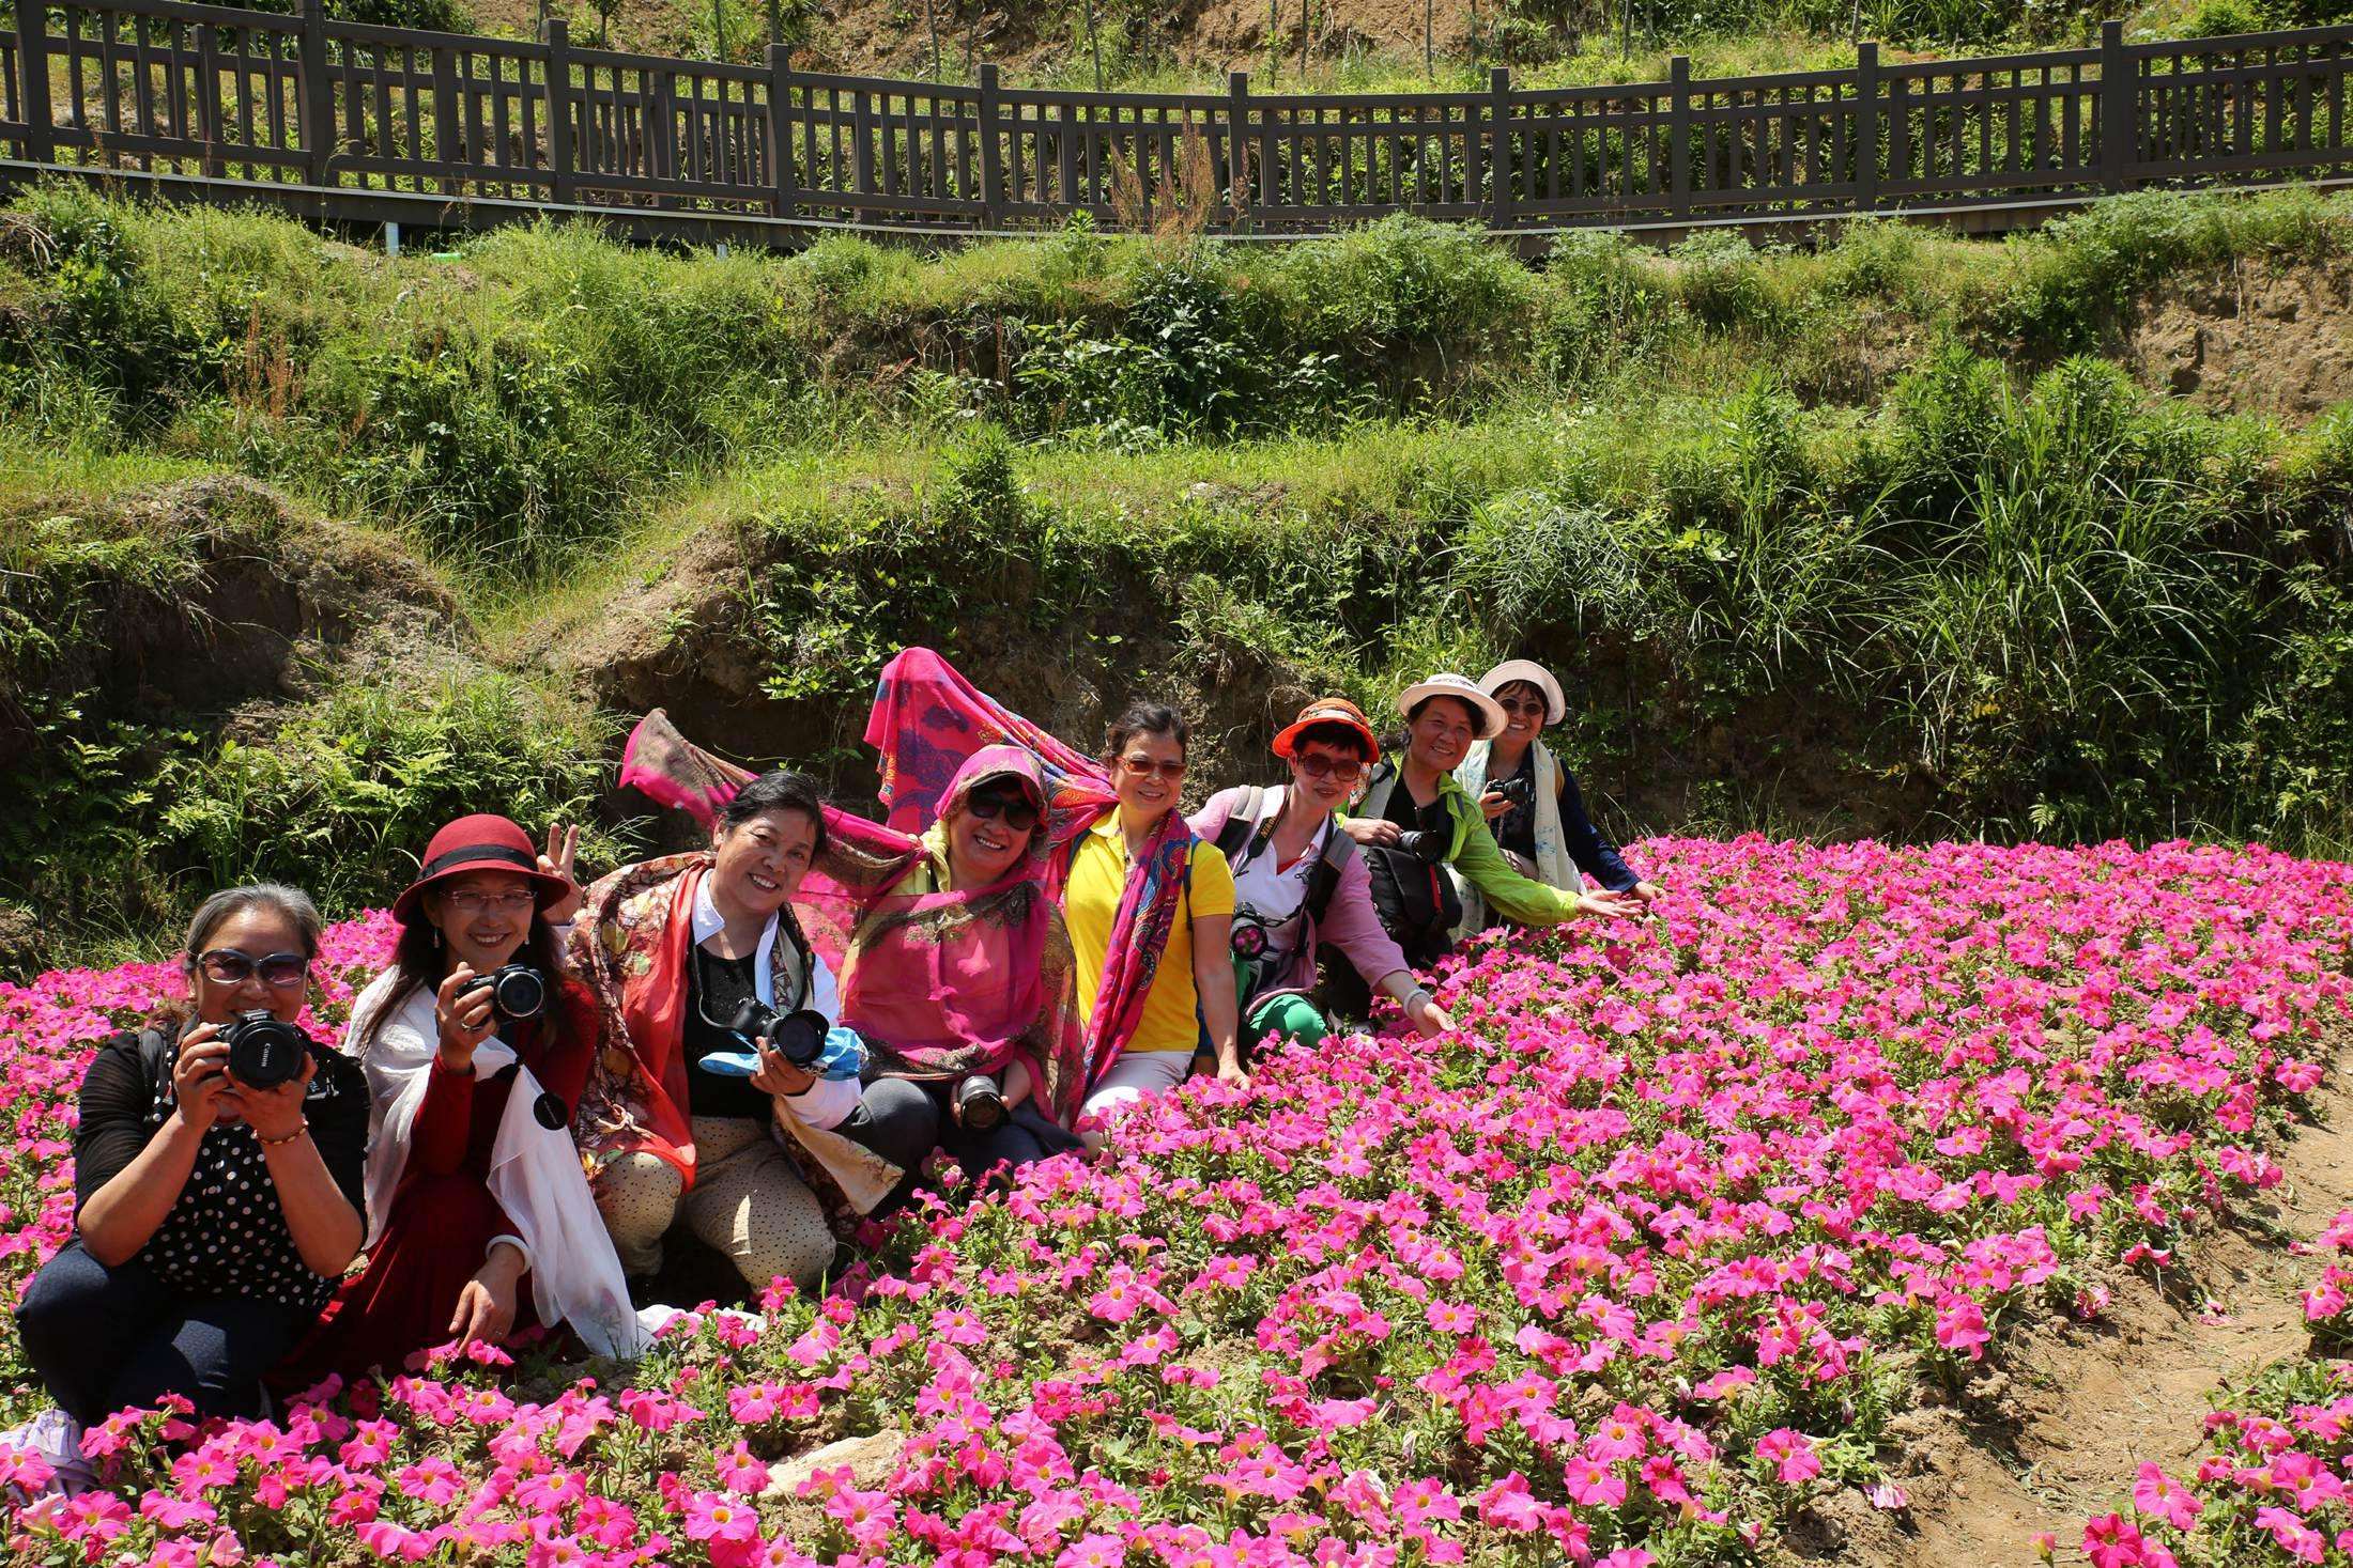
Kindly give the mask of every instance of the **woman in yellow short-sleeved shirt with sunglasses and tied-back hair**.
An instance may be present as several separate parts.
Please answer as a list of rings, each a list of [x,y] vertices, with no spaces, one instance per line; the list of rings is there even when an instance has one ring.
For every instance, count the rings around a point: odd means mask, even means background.
[[[1073,839],[1061,907],[1099,1041],[1087,1112],[1181,1084],[1202,1030],[1217,1077],[1249,1081],[1235,1051],[1233,870],[1176,811],[1186,741],[1174,708],[1122,712],[1104,743],[1118,804]]]

